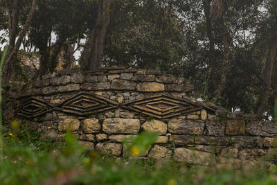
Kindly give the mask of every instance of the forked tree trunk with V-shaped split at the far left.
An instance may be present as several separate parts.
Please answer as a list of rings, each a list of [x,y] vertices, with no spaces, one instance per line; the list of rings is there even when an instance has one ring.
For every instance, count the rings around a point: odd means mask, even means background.
[[[10,6],[12,5],[12,6]],[[3,65],[3,85],[8,85],[12,76],[15,75],[15,62],[17,61],[17,52],[19,51],[19,47],[24,39],[26,32],[30,26],[30,21],[33,19],[33,15],[35,13],[37,7],[37,0],[33,0],[32,7],[30,8],[30,12],[26,19],[26,22],[19,33],[19,37],[17,42],[15,43],[15,39],[17,37],[17,30],[19,24],[19,9],[20,4],[18,0],[14,1],[6,1],[6,6],[8,8],[8,17],[9,17],[9,37],[10,37],[10,46],[8,49],[8,55],[6,61]]]

